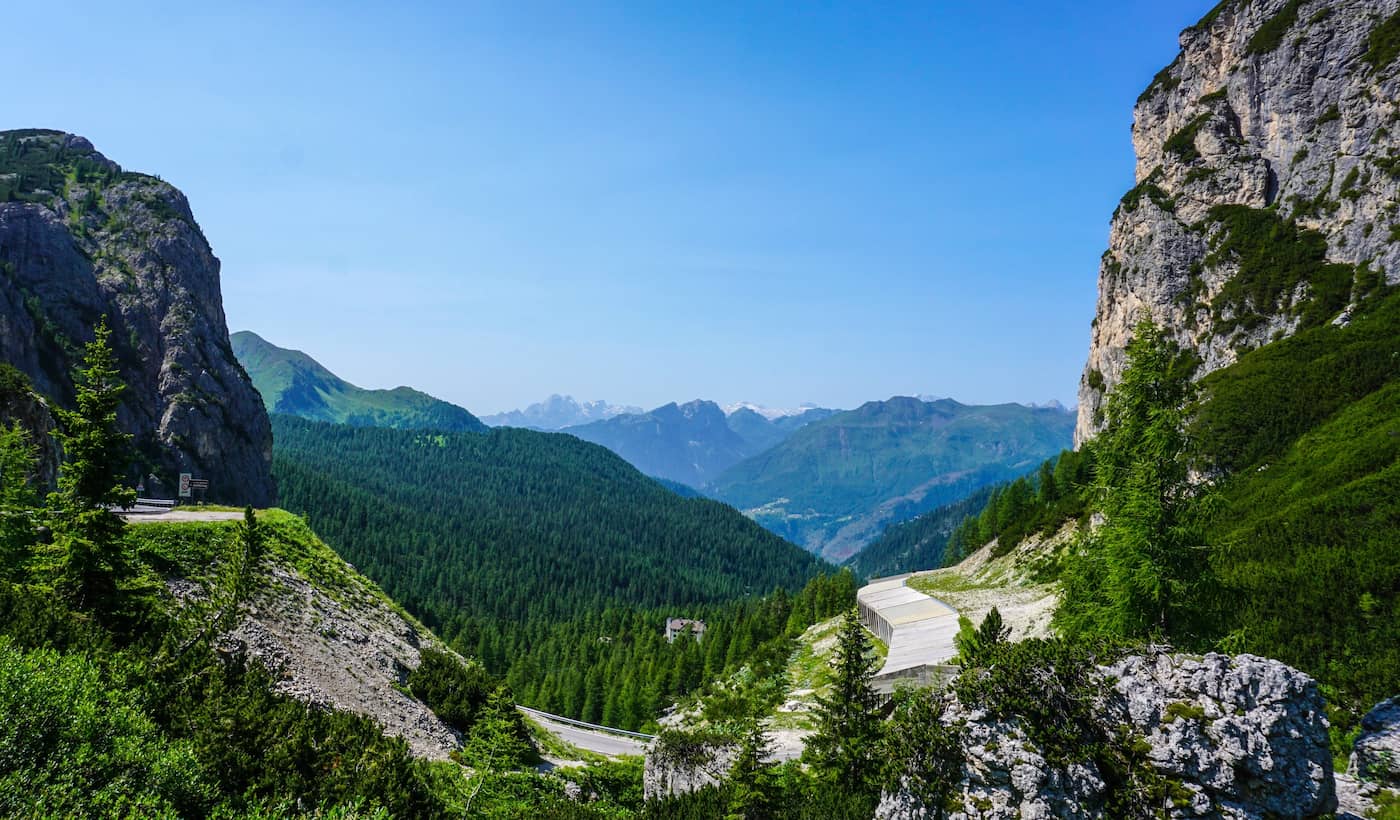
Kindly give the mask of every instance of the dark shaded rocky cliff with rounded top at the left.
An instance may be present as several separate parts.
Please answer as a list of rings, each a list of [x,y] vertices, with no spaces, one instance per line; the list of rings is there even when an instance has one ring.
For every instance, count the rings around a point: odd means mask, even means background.
[[[0,361],[50,402],[106,316],[130,389],[119,413],[148,491],[269,505],[272,427],[224,320],[218,259],[185,196],[83,137],[0,132]],[[133,470],[133,479],[136,477]]]

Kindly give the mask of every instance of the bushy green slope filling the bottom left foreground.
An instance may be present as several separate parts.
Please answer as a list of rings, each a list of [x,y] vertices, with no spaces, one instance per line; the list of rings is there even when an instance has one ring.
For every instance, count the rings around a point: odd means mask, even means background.
[[[127,528],[109,609],[78,612],[55,592],[53,547],[0,565],[0,814],[462,810],[455,763],[414,760],[372,721],[309,709],[260,666],[218,656],[217,635],[272,574],[382,600],[300,521],[270,512],[259,529],[249,561],[238,522]]]

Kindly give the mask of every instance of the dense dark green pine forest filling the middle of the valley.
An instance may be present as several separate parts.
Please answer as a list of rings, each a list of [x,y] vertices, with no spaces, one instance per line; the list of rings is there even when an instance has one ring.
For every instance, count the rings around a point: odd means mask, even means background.
[[[734,667],[825,564],[560,434],[424,434],[274,417],[283,505],[529,705],[622,728]],[[778,591],[778,592],[774,592]],[[773,593],[759,602],[759,596]],[[815,609],[813,609],[815,607]],[[708,625],[666,644],[666,617]],[[797,623],[797,621],[794,621]]]

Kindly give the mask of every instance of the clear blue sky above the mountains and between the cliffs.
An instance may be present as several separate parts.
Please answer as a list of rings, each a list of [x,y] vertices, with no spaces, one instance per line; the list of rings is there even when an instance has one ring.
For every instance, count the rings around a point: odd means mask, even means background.
[[[363,386],[1070,403],[1211,4],[14,3],[0,127],[178,185],[230,327]]]

